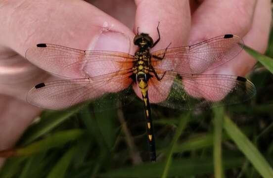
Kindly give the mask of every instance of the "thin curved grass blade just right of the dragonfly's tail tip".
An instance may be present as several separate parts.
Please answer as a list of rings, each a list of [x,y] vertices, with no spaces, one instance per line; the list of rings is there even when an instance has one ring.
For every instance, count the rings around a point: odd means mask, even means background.
[[[178,138],[180,137],[180,135],[182,134],[182,131],[184,130],[186,123],[188,121],[188,118],[190,117],[190,114],[187,114],[185,117],[181,117],[180,122],[178,124],[177,127],[177,131],[176,134],[171,142],[170,145],[170,149],[167,153],[167,160],[166,160],[166,164],[164,166],[164,170],[163,170],[163,174],[161,178],[167,178],[169,170],[170,170],[170,166],[172,164],[172,155],[174,153],[175,150],[175,145],[177,143]]]

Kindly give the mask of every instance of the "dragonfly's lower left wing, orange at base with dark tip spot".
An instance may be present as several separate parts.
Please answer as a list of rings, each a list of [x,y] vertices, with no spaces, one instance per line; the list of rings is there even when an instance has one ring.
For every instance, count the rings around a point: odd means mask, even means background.
[[[109,102],[121,99],[125,104],[125,102],[132,100],[130,100],[132,97],[128,89],[133,82],[129,78],[130,75],[130,72],[125,71],[120,75],[112,73],[94,78],[41,83],[29,91],[27,101],[44,109],[64,110],[76,104],[88,103],[99,97],[105,98],[113,95],[109,98]],[[115,97],[114,93],[117,93]],[[109,102],[95,102],[94,104],[103,108]]]

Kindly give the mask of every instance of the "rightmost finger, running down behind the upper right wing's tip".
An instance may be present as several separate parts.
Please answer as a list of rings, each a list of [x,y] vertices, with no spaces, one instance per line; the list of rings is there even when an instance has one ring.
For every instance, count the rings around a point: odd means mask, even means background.
[[[270,24],[272,20],[270,4],[270,0],[259,0],[257,2],[253,16],[253,24],[251,25],[250,30],[248,30],[248,33],[243,38],[246,45],[249,45],[260,52],[264,52],[267,47]],[[253,68],[255,63],[256,60],[253,57],[250,57],[245,51],[242,51],[239,55],[228,61],[226,64],[216,69],[207,71],[205,74],[214,73],[244,76],[249,70]],[[198,88],[210,91],[209,87],[198,86]],[[217,95],[215,96],[218,98],[215,99],[218,100],[221,99],[226,93],[216,94]],[[207,96],[203,97],[206,98]]]

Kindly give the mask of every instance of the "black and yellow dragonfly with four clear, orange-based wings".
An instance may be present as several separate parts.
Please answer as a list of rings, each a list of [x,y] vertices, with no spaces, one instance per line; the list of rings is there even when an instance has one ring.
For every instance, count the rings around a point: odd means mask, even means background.
[[[243,48],[240,37],[227,34],[150,52],[160,41],[158,26],[157,32],[155,42],[147,33],[137,32],[134,45],[138,50],[134,55],[53,44],[29,48],[27,59],[43,61],[44,70],[67,79],[36,85],[28,92],[27,101],[41,108],[62,110],[83,102],[96,104],[98,98],[116,93],[117,97],[108,99],[125,104],[134,89],[134,95],[143,100],[150,160],[155,162],[151,104],[192,110],[241,103],[255,94],[255,86],[244,77],[202,74],[239,54]],[[101,102],[97,105],[105,107]]]

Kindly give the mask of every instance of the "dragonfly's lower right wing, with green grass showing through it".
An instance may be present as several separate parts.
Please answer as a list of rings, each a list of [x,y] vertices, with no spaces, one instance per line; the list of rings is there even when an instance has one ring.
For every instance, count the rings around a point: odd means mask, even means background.
[[[149,89],[149,92],[157,95],[152,95],[154,98],[150,101],[157,101],[156,104],[174,109],[207,109],[237,104],[256,93],[255,86],[249,80],[238,76],[188,74],[174,78],[174,74],[166,74],[165,77],[170,79],[166,79],[169,81],[168,85],[156,79],[151,80],[152,85],[156,85],[156,90]]]

